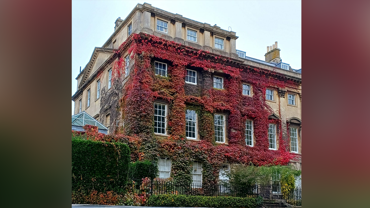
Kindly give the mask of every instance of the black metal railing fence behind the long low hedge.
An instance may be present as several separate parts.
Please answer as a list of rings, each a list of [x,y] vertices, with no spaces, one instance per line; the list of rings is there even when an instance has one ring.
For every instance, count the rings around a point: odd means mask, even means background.
[[[245,185],[236,186],[232,184],[217,184],[217,185],[179,185],[172,181],[147,181],[138,182],[136,186],[140,191],[140,204],[147,205],[148,198],[155,194],[185,194],[185,195],[201,195],[201,196],[224,196],[224,197],[257,197],[263,199],[284,199],[288,204],[301,206],[301,189],[289,188],[287,185]]]

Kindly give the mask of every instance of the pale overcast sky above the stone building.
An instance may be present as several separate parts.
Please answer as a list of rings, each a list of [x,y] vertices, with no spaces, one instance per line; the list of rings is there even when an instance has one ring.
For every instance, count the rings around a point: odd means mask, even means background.
[[[125,19],[136,4],[181,14],[211,26],[217,24],[236,32],[236,49],[246,56],[265,60],[266,47],[275,41],[280,58],[294,69],[301,68],[301,1],[72,1],[72,95],[77,90],[75,78],[90,60],[94,47],[101,47],[114,32],[118,17]],[[229,28],[231,27],[231,29]],[[74,102],[72,101],[72,115]]]

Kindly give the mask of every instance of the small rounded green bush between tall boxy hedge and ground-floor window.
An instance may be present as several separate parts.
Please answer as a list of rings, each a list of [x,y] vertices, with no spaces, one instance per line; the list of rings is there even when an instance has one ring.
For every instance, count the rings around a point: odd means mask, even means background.
[[[128,177],[130,179],[142,179],[149,177],[153,180],[157,177],[158,167],[149,160],[131,162]]]

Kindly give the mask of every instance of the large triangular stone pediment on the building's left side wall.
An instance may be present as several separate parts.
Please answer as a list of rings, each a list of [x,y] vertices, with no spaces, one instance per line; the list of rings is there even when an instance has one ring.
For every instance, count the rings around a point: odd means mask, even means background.
[[[81,80],[81,83],[78,85],[78,88],[80,88],[113,53],[113,48],[95,47],[94,51],[92,52],[90,61],[86,64],[83,70],[83,78]]]

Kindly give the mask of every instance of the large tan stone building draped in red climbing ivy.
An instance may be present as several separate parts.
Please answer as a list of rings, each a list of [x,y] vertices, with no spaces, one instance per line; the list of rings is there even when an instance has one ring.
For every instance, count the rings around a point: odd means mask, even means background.
[[[74,114],[139,137],[159,177],[212,183],[233,163],[301,170],[301,70],[236,50],[236,33],[137,4],[77,76]]]

